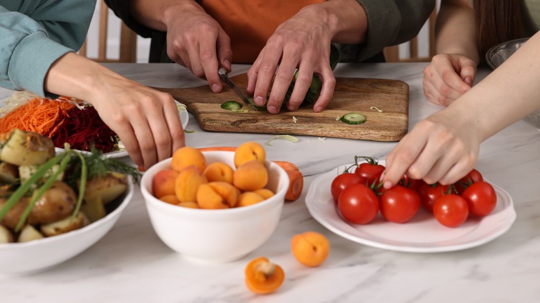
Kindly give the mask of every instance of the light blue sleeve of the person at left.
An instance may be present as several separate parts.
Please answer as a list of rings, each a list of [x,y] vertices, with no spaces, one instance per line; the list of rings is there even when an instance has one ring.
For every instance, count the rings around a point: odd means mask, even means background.
[[[10,2],[22,3],[20,11],[11,10]],[[0,0],[0,86],[46,96],[48,69],[80,48],[95,4],[93,0]]]

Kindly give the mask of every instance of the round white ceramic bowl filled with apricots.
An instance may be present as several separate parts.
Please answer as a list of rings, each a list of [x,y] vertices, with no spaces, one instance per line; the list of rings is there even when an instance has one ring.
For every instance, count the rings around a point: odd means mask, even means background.
[[[234,152],[203,154],[208,164],[222,161],[234,167]],[[225,210],[183,208],[156,199],[152,180],[170,163],[168,158],[150,167],[141,179],[141,192],[156,234],[172,250],[200,261],[233,261],[262,246],[278,226],[289,177],[276,163],[266,163],[267,188],[276,194],[254,205]]]

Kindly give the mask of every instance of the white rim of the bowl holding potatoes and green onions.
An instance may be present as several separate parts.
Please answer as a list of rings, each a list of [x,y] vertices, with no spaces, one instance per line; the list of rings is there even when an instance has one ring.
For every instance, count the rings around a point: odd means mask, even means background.
[[[71,230],[71,232],[66,232],[62,235],[52,236],[52,237],[44,237],[43,239],[37,239],[34,241],[28,241],[28,242],[10,242],[10,243],[0,243],[0,250],[3,250],[5,248],[12,248],[12,249],[19,249],[19,248],[25,248],[28,246],[39,246],[39,245],[46,245],[50,243],[54,243],[56,241],[63,241],[64,239],[69,239],[71,237],[78,237],[80,234],[84,234],[86,232],[89,232],[90,230],[96,229],[100,226],[105,225],[105,223],[111,221],[112,219],[118,217],[121,212],[127,207],[127,204],[129,204],[130,201],[132,201],[133,193],[135,191],[135,186],[133,183],[133,177],[130,175],[127,175],[127,192],[125,194],[125,197],[118,205],[117,208],[115,208],[112,212],[109,212],[105,217],[102,219],[99,219],[96,222],[92,222],[87,226],[84,226],[83,228],[79,228],[78,230]]]

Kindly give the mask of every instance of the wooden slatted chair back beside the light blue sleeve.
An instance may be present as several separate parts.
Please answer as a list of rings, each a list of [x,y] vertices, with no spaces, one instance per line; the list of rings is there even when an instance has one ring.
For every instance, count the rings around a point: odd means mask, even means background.
[[[107,27],[109,8],[105,1],[100,1],[100,19],[99,19],[99,36],[98,36],[98,57],[92,57],[96,62],[137,62],[137,34],[128,28],[124,23],[120,28],[120,54],[118,59],[110,59],[107,57]],[[87,57],[87,42],[84,41],[79,50],[79,54]]]

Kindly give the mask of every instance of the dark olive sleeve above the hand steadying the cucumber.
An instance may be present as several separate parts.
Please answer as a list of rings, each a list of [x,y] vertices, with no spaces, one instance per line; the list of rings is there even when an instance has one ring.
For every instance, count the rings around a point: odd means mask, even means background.
[[[364,44],[340,44],[341,62],[363,61],[393,46],[413,39],[429,18],[435,0],[357,0],[368,15]]]

